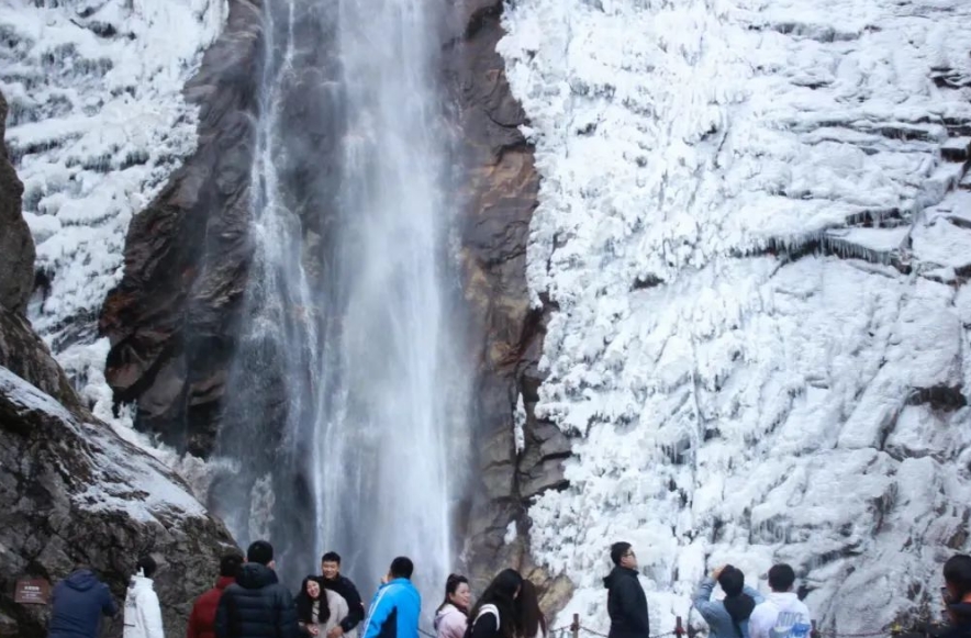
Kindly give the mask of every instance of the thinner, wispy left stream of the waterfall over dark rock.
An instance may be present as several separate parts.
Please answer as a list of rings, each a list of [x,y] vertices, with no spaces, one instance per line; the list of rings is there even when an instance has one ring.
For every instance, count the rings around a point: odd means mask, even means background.
[[[319,339],[302,264],[303,233],[286,167],[286,116],[299,48],[294,2],[265,11],[265,58],[250,184],[254,256],[217,454],[235,460],[233,477],[212,491],[215,511],[244,546],[272,538],[294,571],[313,538],[308,459],[312,437]],[[302,568],[309,569],[309,566]],[[299,572],[298,572],[299,573]]]

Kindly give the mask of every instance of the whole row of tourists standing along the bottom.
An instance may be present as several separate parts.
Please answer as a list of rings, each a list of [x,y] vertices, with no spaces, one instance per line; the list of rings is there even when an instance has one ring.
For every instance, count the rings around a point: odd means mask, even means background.
[[[638,579],[637,556],[628,542],[611,547],[613,570],[603,579],[611,626],[609,638],[650,638],[647,596]],[[152,577],[156,563],[138,560],[123,607],[124,638],[164,638],[161,611]],[[341,557],[327,552],[321,573],[290,591],[277,579],[274,548],[252,544],[244,558],[220,560],[215,586],[202,594],[189,616],[187,638],[420,638],[422,601],[412,584],[414,563],[391,561],[381,586],[365,612],[355,584],[341,573]],[[810,609],[794,593],[795,572],[788,564],[769,570],[768,595],[746,585],[741,570],[715,569],[699,584],[693,606],[711,638],[808,638]],[[942,604],[950,626],[941,638],[971,638],[971,557],[958,555],[944,566]],[[714,597],[715,585],[724,594]],[[48,638],[96,638],[100,617],[119,609],[88,569],[79,569],[54,589]],[[435,612],[436,638],[553,638],[540,609],[536,585],[505,569],[472,603],[469,581],[450,574]],[[178,630],[177,633],[181,633]]]

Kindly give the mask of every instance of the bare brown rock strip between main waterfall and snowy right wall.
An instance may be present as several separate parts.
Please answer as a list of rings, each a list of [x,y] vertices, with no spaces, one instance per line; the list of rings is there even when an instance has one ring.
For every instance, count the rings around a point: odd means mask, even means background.
[[[525,114],[512,97],[495,44],[502,2],[457,7],[447,47],[449,86],[459,104],[466,157],[467,216],[462,230],[466,298],[481,344],[472,413],[479,415],[478,477],[472,486],[468,559],[478,590],[496,566],[513,564],[537,582],[548,577],[528,556],[528,501],[562,489],[569,440],[533,407],[547,311],[529,305],[526,244],[539,176],[518,127]],[[518,440],[517,440],[518,438]],[[536,573],[533,573],[535,570]],[[548,583],[547,604],[565,602],[566,579]]]

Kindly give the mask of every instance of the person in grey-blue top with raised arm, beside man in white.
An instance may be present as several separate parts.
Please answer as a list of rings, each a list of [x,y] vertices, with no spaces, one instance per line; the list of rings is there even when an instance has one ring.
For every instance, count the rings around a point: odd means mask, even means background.
[[[723,601],[713,601],[715,583],[725,592]],[[694,608],[708,624],[711,638],[750,638],[748,619],[756,605],[764,602],[762,594],[745,585],[745,574],[730,564],[719,567],[697,585]]]

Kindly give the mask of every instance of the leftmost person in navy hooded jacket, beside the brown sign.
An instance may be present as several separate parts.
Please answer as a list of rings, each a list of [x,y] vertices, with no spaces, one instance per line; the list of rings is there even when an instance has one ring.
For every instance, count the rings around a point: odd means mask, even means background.
[[[101,616],[118,614],[108,585],[79,569],[54,586],[47,638],[96,638]]]

